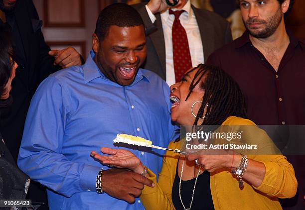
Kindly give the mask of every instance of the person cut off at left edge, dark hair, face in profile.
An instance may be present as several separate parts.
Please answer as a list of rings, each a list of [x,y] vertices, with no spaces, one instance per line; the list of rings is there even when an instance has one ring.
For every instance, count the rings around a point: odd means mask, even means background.
[[[9,28],[0,24],[0,112],[12,102],[9,92],[18,66],[13,60],[10,37]],[[0,200],[25,199],[29,181],[28,176],[18,169],[0,134]]]

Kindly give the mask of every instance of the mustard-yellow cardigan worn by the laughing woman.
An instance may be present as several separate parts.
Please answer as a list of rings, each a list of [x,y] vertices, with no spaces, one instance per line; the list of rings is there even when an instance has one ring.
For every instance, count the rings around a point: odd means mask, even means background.
[[[255,125],[248,119],[235,116],[228,117],[223,125]],[[266,135],[266,134],[265,134]],[[179,142],[170,142],[171,149],[180,148]],[[278,198],[291,198],[297,191],[297,180],[293,166],[283,155],[248,155],[250,159],[265,165],[266,173],[262,184],[254,187],[244,181],[240,190],[238,181],[227,171],[210,173],[210,188],[215,210],[280,210]],[[155,174],[149,171],[155,186],[145,186],[140,197],[147,210],[174,210],[171,199],[179,155],[167,151],[163,157],[163,165],[158,182]],[[200,186],[196,186],[198,188]],[[189,195],[191,196],[191,195]],[[204,209],[202,204],[202,209]]]

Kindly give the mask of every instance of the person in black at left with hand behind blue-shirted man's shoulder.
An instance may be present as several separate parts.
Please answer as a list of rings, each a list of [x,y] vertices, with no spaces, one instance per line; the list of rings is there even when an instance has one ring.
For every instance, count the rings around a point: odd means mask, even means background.
[[[18,69],[12,82],[13,103],[3,111],[0,132],[16,161],[26,113],[40,82],[62,68],[81,65],[84,60],[72,47],[61,51],[50,50],[41,32],[42,20],[39,19],[32,0],[0,0],[1,11],[4,15],[0,21],[6,22],[12,29]],[[31,183],[27,196],[27,199],[47,205],[45,187],[38,183]]]

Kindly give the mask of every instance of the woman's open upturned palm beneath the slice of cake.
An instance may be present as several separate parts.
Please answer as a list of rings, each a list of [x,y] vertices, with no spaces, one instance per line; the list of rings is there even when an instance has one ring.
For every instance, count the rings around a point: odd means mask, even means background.
[[[102,156],[94,151],[91,152],[91,156],[102,164],[112,164],[116,168],[128,168],[137,174],[144,171],[145,167],[139,158],[128,150],[103,147],[101,151],[109,156]]]

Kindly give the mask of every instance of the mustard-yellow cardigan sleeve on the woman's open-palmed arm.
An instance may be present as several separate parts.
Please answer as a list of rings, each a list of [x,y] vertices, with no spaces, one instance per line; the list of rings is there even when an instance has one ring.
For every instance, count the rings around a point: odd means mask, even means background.
[[[170,147],[173,142],[169,143]],[[153,181],[155,186],[153,188],[145,186],[142,190],[142,195],[140,197],[146,210],[174,210],[174,206],[171,199],[171,190],[172,190],[172,179],[170,176],[170,171],[172,170],[171,165],[172,158],[176,158],[176,154],[172,152],[166,152],[163,157],[163,164],[161,172],[159,173],[158,182],[156,181],[156,175],[151,171],[149,172],[149,179]]]

